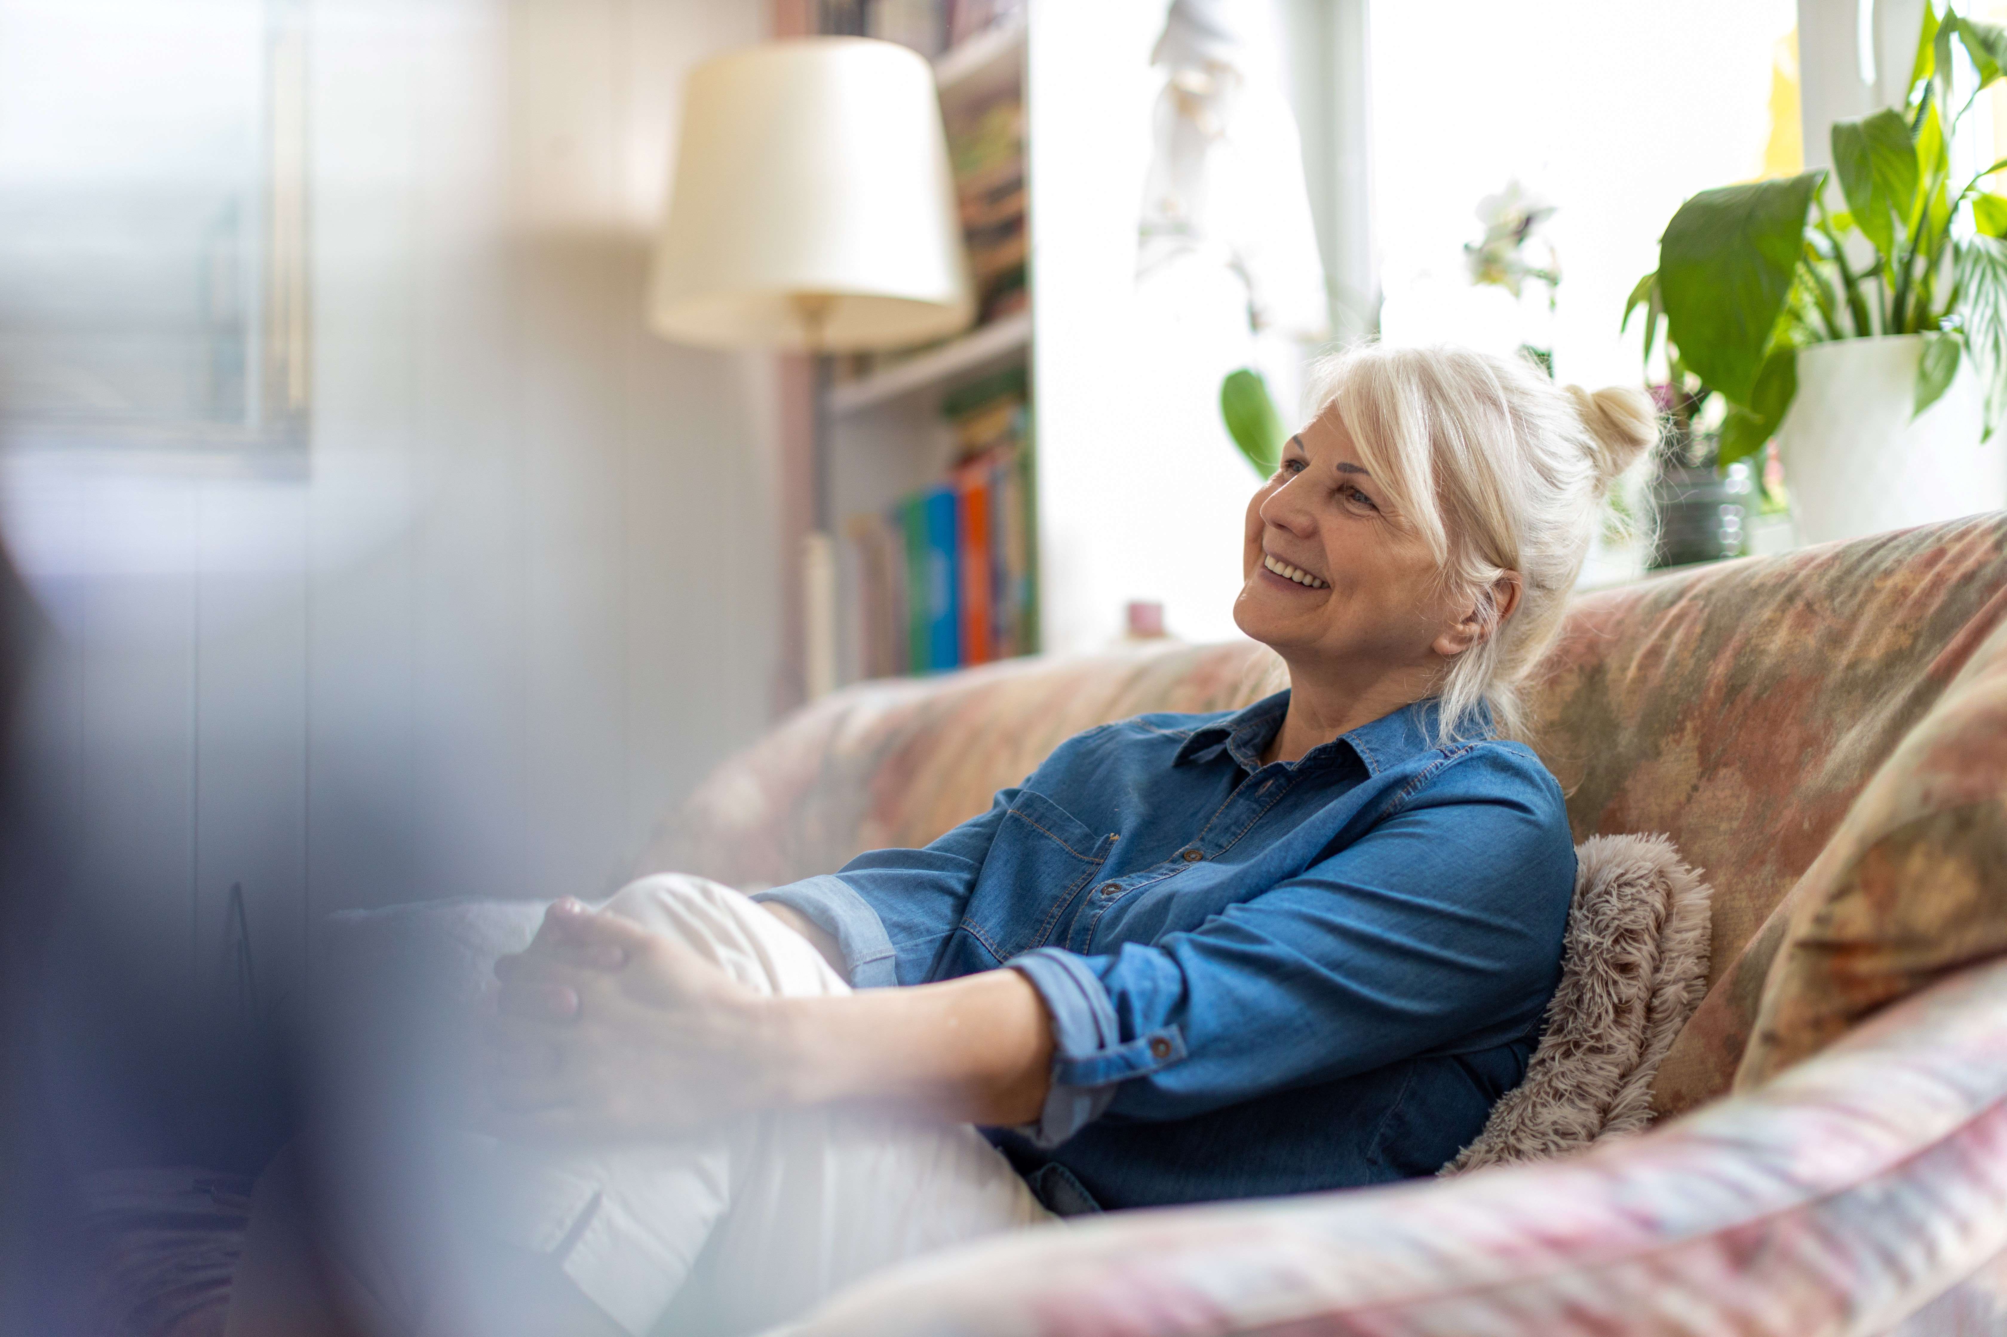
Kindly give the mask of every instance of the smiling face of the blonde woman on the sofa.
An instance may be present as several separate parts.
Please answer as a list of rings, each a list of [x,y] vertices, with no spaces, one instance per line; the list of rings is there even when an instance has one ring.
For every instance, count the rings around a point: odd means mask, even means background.
[[[1291,670],[1431,676],[1469,643],[1421,537],[1367,473],[1337,413],[1288,439],[1248,501],[1234,623]]]

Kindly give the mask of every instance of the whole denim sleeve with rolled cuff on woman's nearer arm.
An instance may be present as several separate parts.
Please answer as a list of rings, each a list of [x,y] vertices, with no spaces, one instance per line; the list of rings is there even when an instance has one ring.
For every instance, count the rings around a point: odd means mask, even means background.
[[[1020,1133],[1054,1147],[1102,1115],[1188,1119],[1523,1034],[1559,978],[1573,860],[1541,802],[1425,802],[1192,932],[1016,956],[1056,1036]]]

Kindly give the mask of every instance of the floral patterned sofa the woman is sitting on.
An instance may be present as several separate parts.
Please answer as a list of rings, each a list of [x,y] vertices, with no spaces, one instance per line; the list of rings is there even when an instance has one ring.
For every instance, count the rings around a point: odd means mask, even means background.
[[[2007,515],[1588,595],[1535,692],[1575,838],[1714,884],[1652,1133],[1387,1189],[1116,1213],[891,1269],[855,1333],[2007,1335]],[[1062,738],[1280,686],[1248,643],[865,684],[638,872],[755,888],[921,844]]]

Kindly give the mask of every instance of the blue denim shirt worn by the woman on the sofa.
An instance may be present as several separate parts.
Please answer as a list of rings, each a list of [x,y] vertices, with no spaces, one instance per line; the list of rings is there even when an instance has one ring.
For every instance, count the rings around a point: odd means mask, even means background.
[[[1429,1175],[1559,982],[1561,790],[1519,744],[1439,746],[1433,702],[1262,766],[1286,708],[1088,730],[925,850],[759,898],[861,988],[1032,980],[1052,1094],[991,1141],[1060,1211]]]

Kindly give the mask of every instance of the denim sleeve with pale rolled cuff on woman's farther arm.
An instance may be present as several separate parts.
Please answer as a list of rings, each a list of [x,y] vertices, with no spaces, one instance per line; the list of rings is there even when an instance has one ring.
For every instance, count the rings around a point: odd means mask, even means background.
[[[753,900],[799,910],[837,940],[851,986],[923,984],[955,930],[1018,790],[923,850],[871,850],[833,874],[789,882]]]

